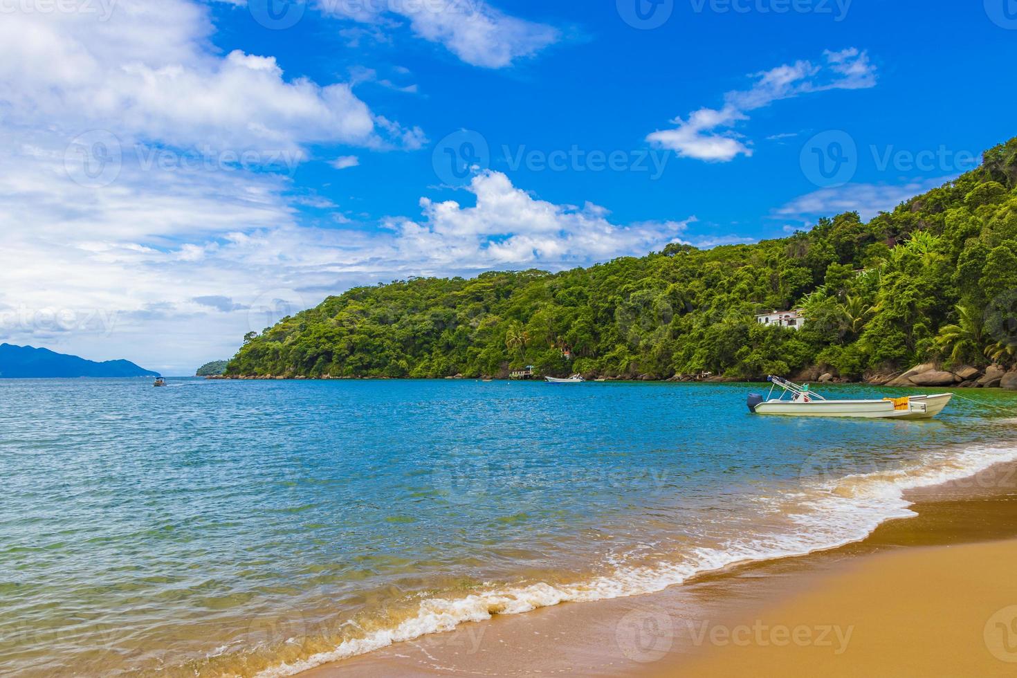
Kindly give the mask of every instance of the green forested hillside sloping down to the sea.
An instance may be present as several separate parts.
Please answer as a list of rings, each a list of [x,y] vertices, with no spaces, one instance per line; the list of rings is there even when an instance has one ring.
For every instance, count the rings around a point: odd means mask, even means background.
[[[479,376],[533,364],[654,378],[821,366],[856,378],[926,359],[1012,364],[1015,187],[1017,139],[869,223],[847,212],[754,245],[357,288],[248,335],[227,374]],[[754,321],[797,305],[809,319],[797,332]]]

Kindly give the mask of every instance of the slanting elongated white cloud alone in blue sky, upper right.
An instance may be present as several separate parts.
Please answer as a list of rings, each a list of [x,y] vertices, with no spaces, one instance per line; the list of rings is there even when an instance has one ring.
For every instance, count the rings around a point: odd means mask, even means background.
[[[733,127],[749,120],[749,113],[782,99],[827,89],[860,89],[876,85],[876,68],[866,52],[850,48],[827,50],[825,63],[796,61],[753,75],[752,87],[728,91],[720,109],[702,108],[686,119],[675,118],[671,129],[658,130],[647,140],[676,151],[683,158],[726,163],[737,156],[751,157],[753,149]]]

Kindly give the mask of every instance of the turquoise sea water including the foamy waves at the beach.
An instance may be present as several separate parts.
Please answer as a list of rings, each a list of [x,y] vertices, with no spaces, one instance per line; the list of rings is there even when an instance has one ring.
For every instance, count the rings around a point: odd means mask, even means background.
[[[1017,456],[1001,391],[900,422],[753,416],[747,384],[171,383],[0,380],[0,673],[286,675],[860,539]]]

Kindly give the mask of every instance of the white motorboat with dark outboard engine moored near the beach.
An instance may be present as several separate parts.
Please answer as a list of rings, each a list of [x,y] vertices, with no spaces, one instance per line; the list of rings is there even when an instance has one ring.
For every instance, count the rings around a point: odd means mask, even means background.
[[[792,415],[796,417],[864,417],[871,419],[930,419],[947,407],[953,393],[906,395],[880,399],[830,400],[809,388],[781,377],[767,377],[773,384],[764,398],[749,395],[749,410],[757,415]],[[775,386],[778,397],[771,397]]]

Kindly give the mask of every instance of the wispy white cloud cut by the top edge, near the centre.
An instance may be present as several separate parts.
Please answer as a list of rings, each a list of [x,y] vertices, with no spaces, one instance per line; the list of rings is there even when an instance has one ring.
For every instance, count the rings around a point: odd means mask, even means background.
[[[325,13],[369,24],[406,19],[420,38],[443,45],[466,63],[483,68],[511,66],[560,39],[553,26],[511,16],[483,0],[319,0],[318,6]]]

